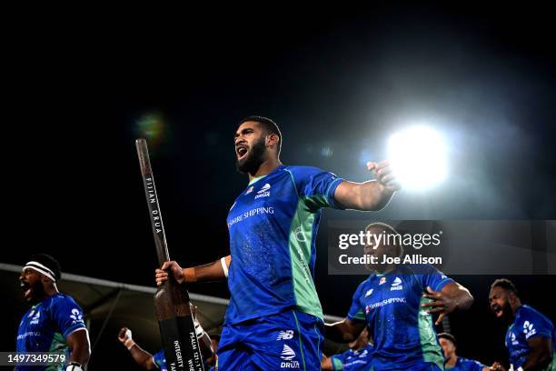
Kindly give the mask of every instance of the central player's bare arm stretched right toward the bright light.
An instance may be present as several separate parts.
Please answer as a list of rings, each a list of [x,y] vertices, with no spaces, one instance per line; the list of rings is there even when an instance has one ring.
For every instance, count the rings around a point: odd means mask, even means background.
[[[342,182],[334,191],[334,200],[348,209],[377,211],[386,206],[395,191],[400,189],[388,161],[367,163],[376,180],[354,183]]]

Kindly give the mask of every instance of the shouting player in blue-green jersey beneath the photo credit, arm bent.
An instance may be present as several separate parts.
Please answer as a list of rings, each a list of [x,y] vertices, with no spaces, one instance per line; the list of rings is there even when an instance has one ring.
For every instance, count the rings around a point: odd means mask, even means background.
[[[396,236],[389,225],[374,223],[365,228],[371,234]],[[371,245],[364,253],[402,256],[402,246]],[[348,316],[326,326],[326,337],[337,342],[352,341],[365,326],[374,342],[373,370],[442,370],[444,356],[438,343],[432,314],[445,315],[472,305],[469,291],[429,265],[373,265],[375,273],[355,291]]]

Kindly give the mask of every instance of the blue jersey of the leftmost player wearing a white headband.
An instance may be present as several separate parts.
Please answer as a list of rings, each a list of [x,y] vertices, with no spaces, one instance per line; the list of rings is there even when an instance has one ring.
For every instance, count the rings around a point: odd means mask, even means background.
[[[63,352],[69,361],[66,337],[86,328],[83,310],[72,296],[55,294],[31,307],[17,330],[17,352]],[[18,366],[17,370],[55,370],[53,366]],[[62,368],[60,368],[62,369]]]

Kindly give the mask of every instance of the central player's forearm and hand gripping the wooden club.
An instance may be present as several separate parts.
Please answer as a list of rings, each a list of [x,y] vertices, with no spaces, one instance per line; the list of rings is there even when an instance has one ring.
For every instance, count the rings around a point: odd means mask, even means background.
[[[232,256],[224,256],[220,260],[204,266],[182,268],[176,262],[164,262],[160,269],[154,272],[156,285],[161,286],[168,279],[168,272],[173,273],[175,280],[179,283],[220,281],[228,276],[228,268],[232,262]]]

